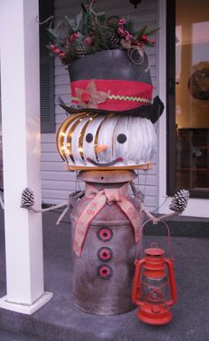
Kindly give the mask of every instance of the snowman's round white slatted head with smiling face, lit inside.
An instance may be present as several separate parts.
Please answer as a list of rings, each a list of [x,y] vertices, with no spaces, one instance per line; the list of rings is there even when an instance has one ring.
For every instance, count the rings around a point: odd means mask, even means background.
[[[59,127],[58,151],[70,169],[147,165],[156,150],[150,120],[121,113],[79,113]]]

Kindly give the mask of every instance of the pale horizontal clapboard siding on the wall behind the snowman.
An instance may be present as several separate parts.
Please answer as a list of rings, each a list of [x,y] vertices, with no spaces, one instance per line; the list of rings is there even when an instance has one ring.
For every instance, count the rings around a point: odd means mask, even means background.
[[[80,3],[77,0],[55,0],[56,22],[64,18],[74,17],[80,12]],[[128,0],[98,0],[97,7],[99,11],[106,12],[107,16],[127,15],[135,20],[135,27],[140,28],[147,24],[149,28],[157,27],[156,23],[156,0],[146,0],[134,8]],[[155,36],[153,36],[153,39]],[[149,55],[151,79],[154,86],[153,96],[158,93],[158,82],[156,81],[156,47],[147,48]],[[61,96],[66,104],[70,102],[70,82],[69,75],[64,66],[61,65],[58,58],[55,59],[54,68],[55,77],[55,112],[56,128],[66,119],[66,112],[57,104],[58,96]],[[153,169],[148,172],[138,171],[138,178],[135,181],[137,190],[145,194],[145,204],[150,211],[155,210],[157,205],[157,155],[153,159]],[[42,135],[42,186],[43,202],[48,204],[59,204],[68,198],[68,195],[74,191],[84,188],[83,182],[76,181],[76,172],[65,170],[65,164],[58,155],[56,145],[56,134]]]

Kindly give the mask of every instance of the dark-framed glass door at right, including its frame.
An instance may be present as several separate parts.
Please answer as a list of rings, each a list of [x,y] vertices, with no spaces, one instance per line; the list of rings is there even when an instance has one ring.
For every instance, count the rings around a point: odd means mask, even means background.
[[[209,2],[167,1],[167,192],[209,198]]]

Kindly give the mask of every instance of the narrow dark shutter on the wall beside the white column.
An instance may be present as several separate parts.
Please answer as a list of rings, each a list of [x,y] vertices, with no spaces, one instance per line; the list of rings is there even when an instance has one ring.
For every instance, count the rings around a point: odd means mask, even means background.
[[[39,20],[50,18],[53,15],[53,1],[39,0]],[[41,100],[41,132],[55,132],[54,112],[54,58],[50,58],[46,48],[50,21],[40,26],[40,100]]]

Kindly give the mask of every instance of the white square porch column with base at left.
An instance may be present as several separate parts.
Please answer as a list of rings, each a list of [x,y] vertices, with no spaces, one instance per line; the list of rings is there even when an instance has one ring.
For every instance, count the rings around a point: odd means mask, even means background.
[[[21,192],[41,206],[38,0],[1,0],[0,51],[7,295],[0,307],[32,314],[43,291],[42,215],[20,208]]]

